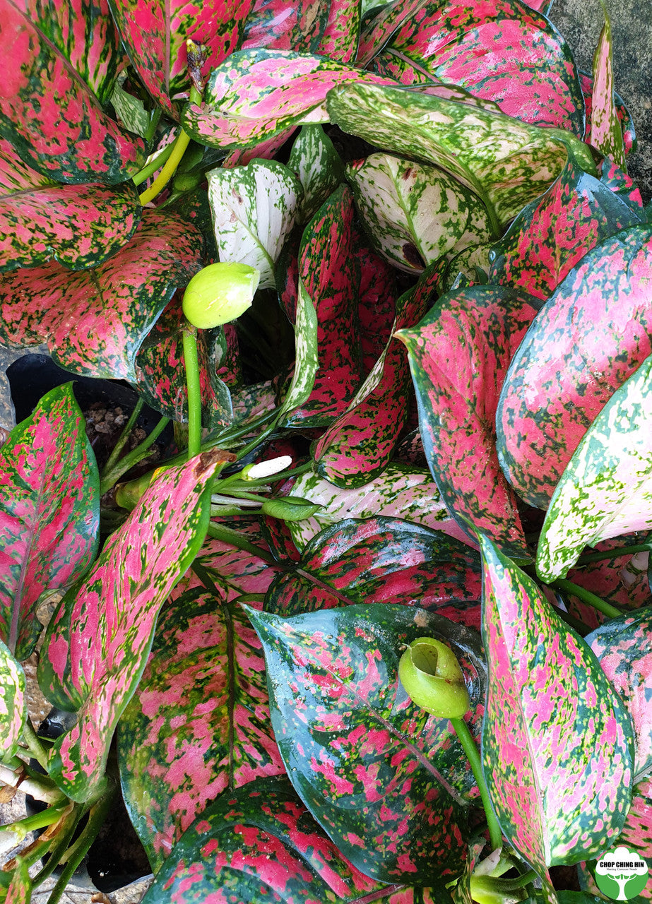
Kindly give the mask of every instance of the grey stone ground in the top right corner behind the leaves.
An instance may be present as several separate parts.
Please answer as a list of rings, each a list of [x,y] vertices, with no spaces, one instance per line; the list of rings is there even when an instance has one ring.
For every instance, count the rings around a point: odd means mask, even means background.
[[[634,119],[638,151],[628,170],[643,200],[652,198],[652,2],[607,0],[613,37],[614,84]],[[569,43],[575,62],[591,72],[604,22],[600,0],[554,0],[550,18]]]

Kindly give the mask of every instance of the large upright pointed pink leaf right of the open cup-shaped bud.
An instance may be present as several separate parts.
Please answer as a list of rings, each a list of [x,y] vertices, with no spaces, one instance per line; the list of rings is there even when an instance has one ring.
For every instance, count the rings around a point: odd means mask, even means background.
[[[609,850],[627,816],[634,738],[581,637],[482,534],[489,663],[483,771],[509,843],[553,899],[548,867]]]

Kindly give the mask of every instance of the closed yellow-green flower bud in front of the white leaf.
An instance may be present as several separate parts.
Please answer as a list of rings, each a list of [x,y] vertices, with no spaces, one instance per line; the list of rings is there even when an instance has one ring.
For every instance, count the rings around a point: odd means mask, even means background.
[[[184,292],[184,315],[199,329],[228,324],[251,306],[260,271],[247,264],[209,264]]]

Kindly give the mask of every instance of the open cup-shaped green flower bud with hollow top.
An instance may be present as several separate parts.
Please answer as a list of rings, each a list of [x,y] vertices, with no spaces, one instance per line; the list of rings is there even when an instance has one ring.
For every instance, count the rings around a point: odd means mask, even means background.
[[[468,711],[467,685],[458,660],[434,637],[412,641],[402,654],[399,678],[412,701],[433,716],[461,719]]]

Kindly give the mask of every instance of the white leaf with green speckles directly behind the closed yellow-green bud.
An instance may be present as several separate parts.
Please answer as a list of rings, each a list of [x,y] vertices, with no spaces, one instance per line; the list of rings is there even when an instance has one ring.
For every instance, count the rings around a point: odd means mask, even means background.
[[[296,176],[276,160],[211,170],[208,199],[220,260],[258,268],[259,288],[275,287],[274,267],[301,195]]]

